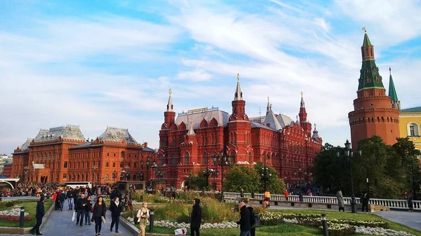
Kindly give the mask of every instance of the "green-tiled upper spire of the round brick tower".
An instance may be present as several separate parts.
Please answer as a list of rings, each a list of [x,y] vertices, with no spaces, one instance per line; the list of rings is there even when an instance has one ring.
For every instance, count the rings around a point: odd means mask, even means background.
[[[379,68],[375,65],[373,45],[368,39],[366,28],[364,27],[363,30],[365,32],[363,46],[361,46],[363,62],[360,70],[358,90],[369,88],[384,89],[382,76],[379,74]]]

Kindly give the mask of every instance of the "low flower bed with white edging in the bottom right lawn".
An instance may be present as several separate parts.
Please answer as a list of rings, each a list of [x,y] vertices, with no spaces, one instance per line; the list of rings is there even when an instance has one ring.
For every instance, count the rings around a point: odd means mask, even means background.
[[[321,217],[316,214],[283,214],[279,212],[265,212],[260,215],[262,225],[278,225],[280,223],[296,223],[323,228]],[[368,235],[402,235],[401,232],[389,230],[389,225],[385,221],[355,221],[347,219],[330,219],[327,221],[329,235],[342,236],[362,233]],[[386,229],[385,229],[386,228]],[[369,229],[369,230],[367,230]],[[359,232],[357,232],[359,230]],[[377,232],[373,233],[373,232]],[[405,235],[411,235],[405,232]]]

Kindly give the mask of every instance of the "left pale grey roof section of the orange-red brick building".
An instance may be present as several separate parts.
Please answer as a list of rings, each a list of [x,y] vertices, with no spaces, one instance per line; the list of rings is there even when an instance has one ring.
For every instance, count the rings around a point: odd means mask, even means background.
[[[53,127],[49,130],[41,129],[34,138],[34,141],[53,141],[59,137],[67,140],[85,141],[79,125],[66,125],[61,127]]]

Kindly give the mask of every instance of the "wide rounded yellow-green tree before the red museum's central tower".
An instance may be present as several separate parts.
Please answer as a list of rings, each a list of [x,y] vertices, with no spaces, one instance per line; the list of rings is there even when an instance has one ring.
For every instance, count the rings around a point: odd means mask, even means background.
[[[246,165],[232,165],[225,174],[224,191],[239,192],[243,188],[246,193],[257,193],[260,176],[255,169]]]

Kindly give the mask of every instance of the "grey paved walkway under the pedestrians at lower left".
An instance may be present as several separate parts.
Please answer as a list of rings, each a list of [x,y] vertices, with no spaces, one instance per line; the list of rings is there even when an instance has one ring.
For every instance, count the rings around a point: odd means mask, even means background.
[[[106,202],[107,205],[109,202]],[[63,211],[51,211],[50,218],[48,221],[43,222],[41,225],[41,233],[44,236],[56,236],[56,235],[68,235],[68,236],[95,236],[95,224],[91,222],[91,225],[83,226],[76,225],[76,218],[72,221],[73,211],[68,211],[67,202],[65,202],[65,209]],[[111,211],[107,210],[106,214],[107,222],[102,223],[101,236],[126,236],[131,235],[121,223],[119,224],[119,233],[115,232],[115,226],[113,231],[109,231],[111,226]],[[26,225],[25,225],[26,226]],[[1,234],[0,234],[1,235]],[[6,235],[1,235],[6,236]],[[21,235],[10,235],[10,236],[21,236]]]

